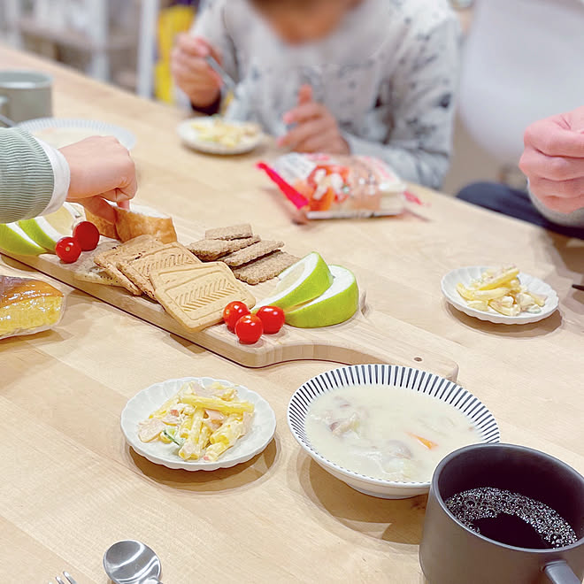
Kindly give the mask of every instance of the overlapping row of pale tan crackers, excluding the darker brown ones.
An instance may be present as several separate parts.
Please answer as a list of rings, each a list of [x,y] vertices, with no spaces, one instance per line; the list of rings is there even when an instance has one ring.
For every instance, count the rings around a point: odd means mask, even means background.
[[[226,264],[204,264],[181,243],[164,244],[151,235],[117,246],[100,244],[96,252],[83,258],[76,276],[122,286],[134,296],[145,294],[192,331],[221,322],[230,302],[238,300],[249,308],[256,304]]]

